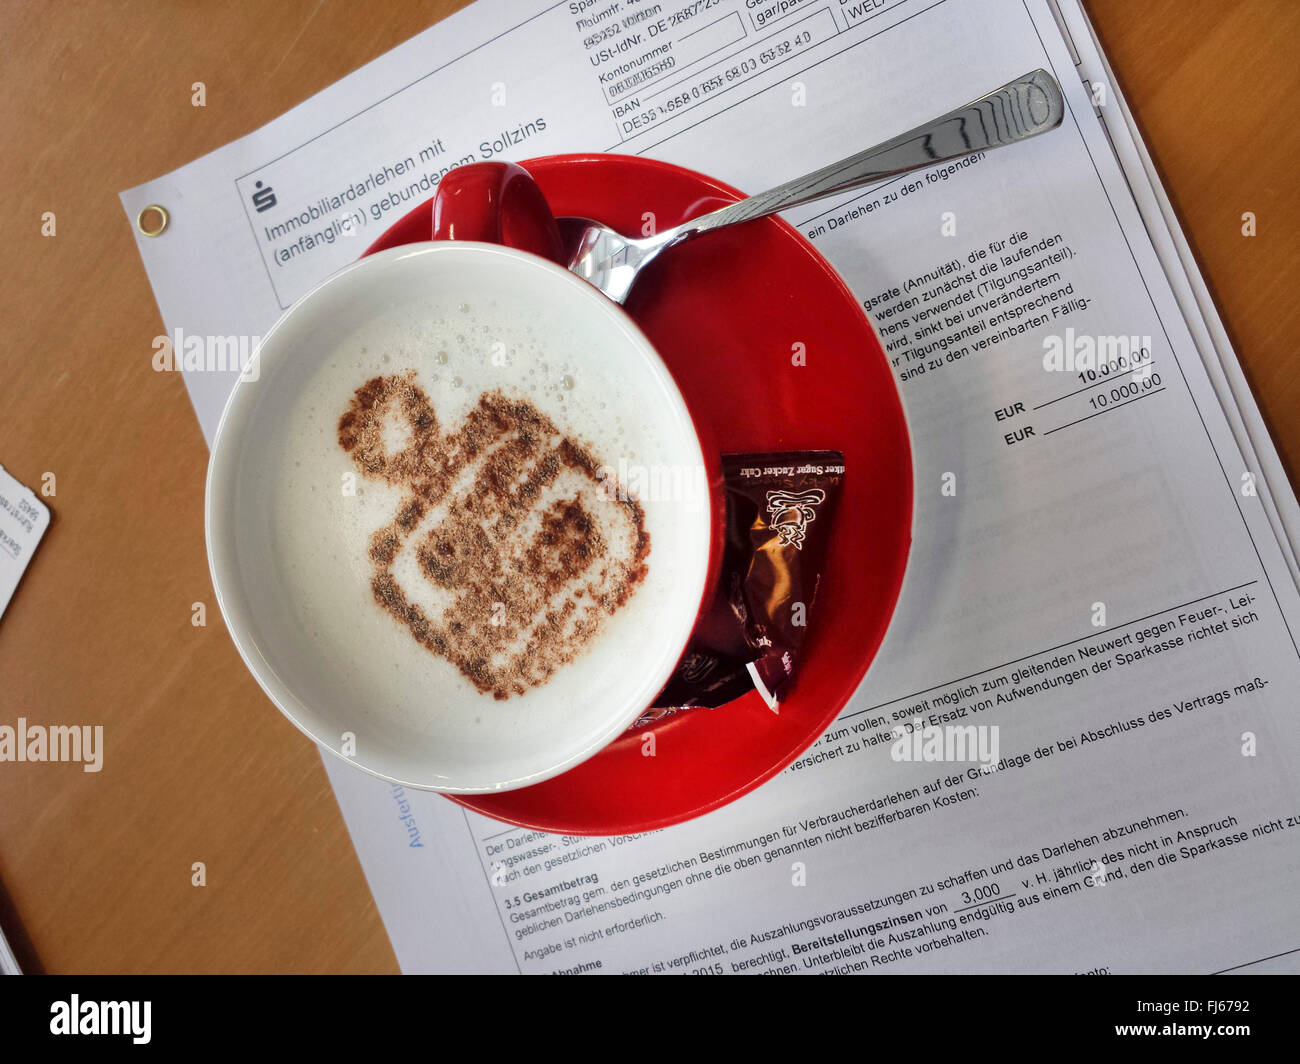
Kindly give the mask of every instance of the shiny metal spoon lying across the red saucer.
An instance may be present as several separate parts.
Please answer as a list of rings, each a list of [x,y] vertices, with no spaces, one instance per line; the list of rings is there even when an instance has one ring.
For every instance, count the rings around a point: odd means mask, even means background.
[[[1063,116],[1065,100],[1056,78],[1046,70],[1034,70],[892,140],[653,237],[624,237],[592,219],[556,219],[560,239],[568,248],[568,268],[615,303],[623,303],[641,271],[660,251],[701,233],[760,219],[971,152],[1027,140],[1056,129]]]

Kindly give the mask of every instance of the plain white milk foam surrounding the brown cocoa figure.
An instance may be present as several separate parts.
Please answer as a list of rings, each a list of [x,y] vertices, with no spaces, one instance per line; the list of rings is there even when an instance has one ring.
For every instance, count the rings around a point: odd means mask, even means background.
[[[545,735],[567,704],[616,689],[624,656],[653,631],[670,596],[672,558],[663,552],[682,503],[642,499],[650,533],[646,579],[576,661],[543,685],[497,701],[376,602],[372,537],[394,520],[404,493],[363,476],[339,445],[339,418],[356,389],[411,372],[445,433],[456,431],[485,393],[499,390],[533,403],[580,440],[597,464],[653,466],[666,442],[655,407],[637,394],[644,380],[624,380],[620,368],[602,362],[601,351],[578,350],[563,323],[545,315],[519,320],[488,298],[387,308],[320,354],[278,457],[272,535],[283,597],[329,682],[360,715],[400,714],[411,727],[450,743],[519,739]],[[404,432],[399,424],[386,428],[386,442],[399,449]],[[698,520],[701,511],[694,512]],[[410,557],[399,558],[393,572],[413,601],[437,609],[438,589]]]

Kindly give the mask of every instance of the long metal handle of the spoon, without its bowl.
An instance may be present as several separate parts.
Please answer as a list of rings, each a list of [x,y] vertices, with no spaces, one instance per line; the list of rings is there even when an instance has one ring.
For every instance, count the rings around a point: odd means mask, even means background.
[[[932,118],[883,144],[677,226],[671,243],[759,219],[887,177],[1037,137],[1065,116],[1061,87],[1046,70],[1023,74],[987,96]]]

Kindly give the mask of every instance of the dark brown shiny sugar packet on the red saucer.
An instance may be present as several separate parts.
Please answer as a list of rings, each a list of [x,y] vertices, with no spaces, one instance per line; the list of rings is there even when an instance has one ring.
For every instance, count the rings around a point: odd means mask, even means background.
[[[712,602],[633,727],[757,689],[777,712],[826,566],[840,451],[724,454],[727,529]]]

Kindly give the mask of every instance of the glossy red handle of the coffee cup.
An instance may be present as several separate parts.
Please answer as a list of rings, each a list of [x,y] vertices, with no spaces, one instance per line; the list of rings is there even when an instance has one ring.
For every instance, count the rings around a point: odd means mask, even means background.
[[[443,174],[433,196],[433,239],[500,243],[560,263],[555,216],[517,163],[471,163]]]

